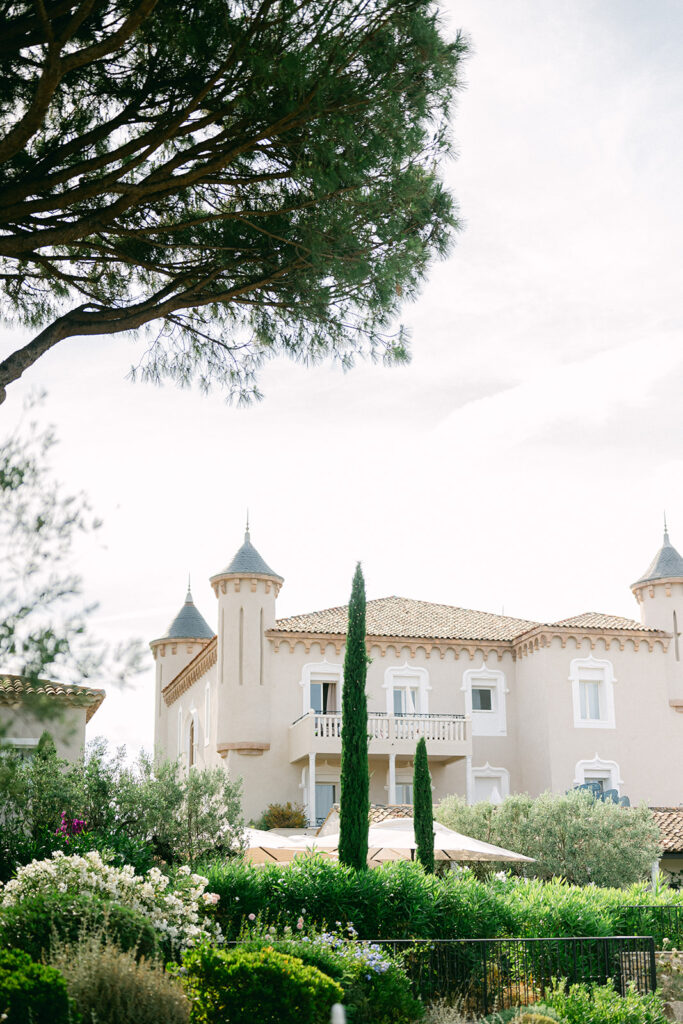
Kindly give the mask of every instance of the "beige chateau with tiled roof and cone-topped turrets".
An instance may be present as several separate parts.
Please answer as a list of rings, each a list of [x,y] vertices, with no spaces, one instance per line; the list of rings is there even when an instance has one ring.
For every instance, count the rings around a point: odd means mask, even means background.
[[[244,778],[247,818],[339,799],[346,608],[278,618],[284,580],[251,543],[211,578],[214,631],[191,594],[152,642],[155,741]],[[425,736],[434,798],[538,795],[597,782],[632,803],[681,802],[683,558],[664,544],[632,587],[640,621],[539,623],[401,597],[368,602],[373,803],[412,802]]]

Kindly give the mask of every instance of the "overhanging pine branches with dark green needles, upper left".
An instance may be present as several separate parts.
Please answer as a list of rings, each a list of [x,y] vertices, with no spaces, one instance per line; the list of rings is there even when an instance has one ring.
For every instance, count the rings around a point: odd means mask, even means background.
[[[436,172],[466,43],[428,0],[0,3],[0,278],[37,332],[158,322],[143,372],[229,394],[283,352],[396,360],[457,225]]]

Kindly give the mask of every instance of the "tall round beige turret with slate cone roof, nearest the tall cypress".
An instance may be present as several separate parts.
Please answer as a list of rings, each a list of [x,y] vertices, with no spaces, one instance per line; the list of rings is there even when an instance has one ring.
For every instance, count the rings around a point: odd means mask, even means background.
[[[222,571],[211,577],[218,598],[219,753],[254,752],[269,742],[268,660],[264,632],[275,623],[283,578],[245,541]]]

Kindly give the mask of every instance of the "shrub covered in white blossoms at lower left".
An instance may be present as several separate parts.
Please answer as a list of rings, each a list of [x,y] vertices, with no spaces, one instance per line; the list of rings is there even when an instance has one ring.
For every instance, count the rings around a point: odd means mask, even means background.
[[[174,890],[159,868],[135,874],[130,865],[106,864],[95,851],[85,856],[67,857],[60,851],[49,860],[34,860],[20,867],[16,878],[0,883],[0,910],[28,897],[53,892],[81,898],[84,893],[129,906],[146,918],[172,947],[185,948],[199,939],[220,939],[220,929],[205,916],[217,902],[215,893],[205,892],[207,879],[179,868]]]

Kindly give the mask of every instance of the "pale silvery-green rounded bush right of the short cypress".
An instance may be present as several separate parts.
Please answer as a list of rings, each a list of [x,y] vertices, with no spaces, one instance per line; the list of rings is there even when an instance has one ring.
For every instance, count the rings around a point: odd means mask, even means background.
[[[659,830],[647,807],[623,808],[579,790],[544,793],[536,800],[507,797],[498,806],[468,807],[460,797],[446,797],[435,817],[466,836],[536,858],[533,864],[516,865],[516,871],[561,876],[578,885],[638,882],[649,877],[660,853]]]

